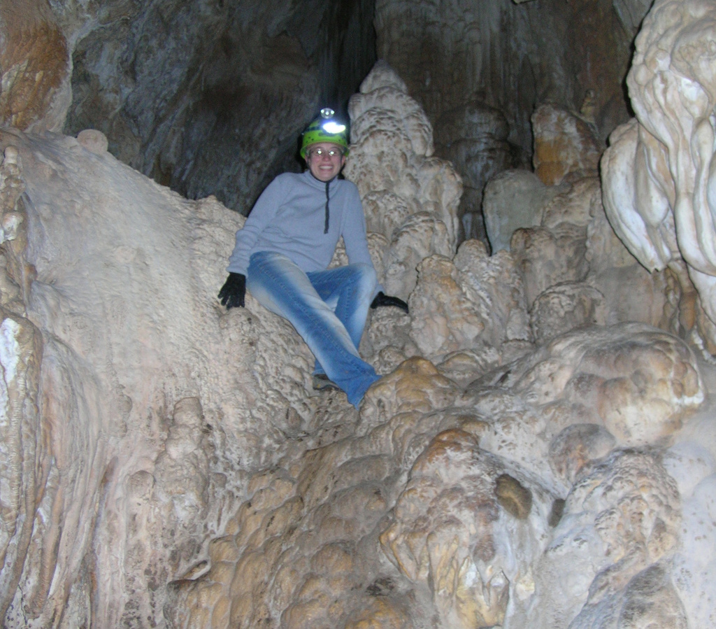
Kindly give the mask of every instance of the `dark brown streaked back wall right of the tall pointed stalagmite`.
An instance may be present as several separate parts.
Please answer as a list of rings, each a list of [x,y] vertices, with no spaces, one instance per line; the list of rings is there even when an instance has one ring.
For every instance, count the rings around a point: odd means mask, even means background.
[[[624,77],[650,4],[377,2],[378,57],[425,107],[437,155],[452,160],[463,177],[466,237],[488,242],[481,205],[490,178],[530,167],[538,106],[580,115],[604,150],[611,130],[629,117]]]

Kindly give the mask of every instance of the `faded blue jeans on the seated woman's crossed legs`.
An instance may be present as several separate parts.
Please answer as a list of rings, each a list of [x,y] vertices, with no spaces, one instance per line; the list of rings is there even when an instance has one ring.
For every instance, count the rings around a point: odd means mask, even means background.
[[[253,297],[289,320],[306,341],[316,357],[314,373],[325,373],[356,408],[379,380],[358,354],[376,286],[369,264],[305,273],[287,256],[272,251],[253,254],[246,273]]]

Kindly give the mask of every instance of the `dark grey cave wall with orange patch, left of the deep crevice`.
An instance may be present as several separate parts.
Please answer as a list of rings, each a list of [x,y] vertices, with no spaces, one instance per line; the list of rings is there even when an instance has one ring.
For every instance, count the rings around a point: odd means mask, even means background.
[[[248,213],[296,135],[375,61],[374,0],[18,0],[0,9],[0,123],[102,131],[123,162]]]

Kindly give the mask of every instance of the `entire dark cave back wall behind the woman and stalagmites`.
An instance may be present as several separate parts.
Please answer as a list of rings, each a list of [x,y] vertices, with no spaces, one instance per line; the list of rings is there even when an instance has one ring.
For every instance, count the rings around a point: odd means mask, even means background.
[[[345,113],[383,58],[463,177],[464,236],[487,243],[483,187],[530,165],[537,105],[582,115],[602,147],[628,119],[624,76],[650,4],[13,0],[0,8],[0,119],[96,128],[155,181],[248,213],[276,173],[300,168],[296,135],[317,108]]]

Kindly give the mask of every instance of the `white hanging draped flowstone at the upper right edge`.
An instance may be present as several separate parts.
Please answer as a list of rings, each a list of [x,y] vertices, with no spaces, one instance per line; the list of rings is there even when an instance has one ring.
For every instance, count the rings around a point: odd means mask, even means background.
[[[705,0],[654,3],[627,76],[637,117],[614,130],[601,159],[605,208],[616,233],[647,269],[672,269],[686,300],[695,288],[697,316],[687,325],[710,354],[716,349],[715,11]]]

